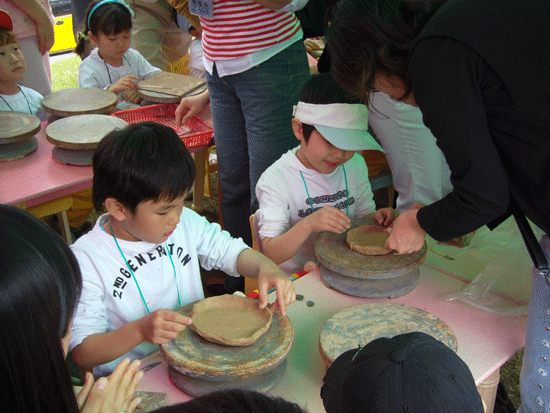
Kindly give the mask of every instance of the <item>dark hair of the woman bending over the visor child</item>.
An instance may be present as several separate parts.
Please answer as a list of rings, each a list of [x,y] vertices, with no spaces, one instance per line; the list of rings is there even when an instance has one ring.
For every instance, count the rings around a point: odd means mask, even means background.
[[[368,103],[377,73],[397,76],[411,93],[409,48],[446,0],[344,0],[328,30],[335,80]]]

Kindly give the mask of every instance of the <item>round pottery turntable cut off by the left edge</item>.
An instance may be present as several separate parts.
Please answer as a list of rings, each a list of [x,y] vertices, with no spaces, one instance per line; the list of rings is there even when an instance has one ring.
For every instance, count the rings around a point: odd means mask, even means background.
[[[21,159],[38,147],[40,119],[21,112],[0,112],[0,162]]]

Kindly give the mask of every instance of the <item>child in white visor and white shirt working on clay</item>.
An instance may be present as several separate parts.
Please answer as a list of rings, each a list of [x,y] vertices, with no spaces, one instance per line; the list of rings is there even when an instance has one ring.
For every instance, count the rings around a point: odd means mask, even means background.
[[[342,233],[351,218],[370,213],[387,227],[395,214],[376,211],[367,165],[355,152],[380,149],[367,131],[367,107],[330,73],[304,84],[292,128],[300,145],[262,174],[254,217],[262,252],[289,274],[314,268],[316,233]]]

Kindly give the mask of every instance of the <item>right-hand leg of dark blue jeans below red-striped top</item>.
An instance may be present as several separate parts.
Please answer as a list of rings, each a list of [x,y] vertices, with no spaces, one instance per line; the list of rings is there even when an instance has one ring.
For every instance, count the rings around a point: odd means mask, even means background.
[[[246,121],[251,213],[258,209],[255,190],[262,173],[299,144],[292,132],[292,111],[309,76],[303,42],[296,42],[235,76],[238,79],[235,89]]]

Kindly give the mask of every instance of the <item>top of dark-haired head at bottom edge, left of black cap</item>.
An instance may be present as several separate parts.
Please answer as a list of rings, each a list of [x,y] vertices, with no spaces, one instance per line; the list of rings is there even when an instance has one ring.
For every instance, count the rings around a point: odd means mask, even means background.
[[[163,407],[155,413],[306,413],[297,404],[246,390],[226,390]]]

